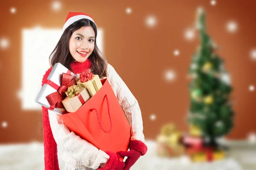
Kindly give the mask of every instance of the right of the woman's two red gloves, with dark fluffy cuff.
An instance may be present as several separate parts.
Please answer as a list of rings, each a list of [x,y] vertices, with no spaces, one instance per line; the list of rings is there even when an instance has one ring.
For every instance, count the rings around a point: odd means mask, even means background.
[[[134,140],[129,144],[130,151],[119,151],[120,156],[127,156],[125,160],[125,168],[123,170],[129,170],[131,166],[140,158],[140,156],[145,155],[148,150],[148,147],[141,141]]]

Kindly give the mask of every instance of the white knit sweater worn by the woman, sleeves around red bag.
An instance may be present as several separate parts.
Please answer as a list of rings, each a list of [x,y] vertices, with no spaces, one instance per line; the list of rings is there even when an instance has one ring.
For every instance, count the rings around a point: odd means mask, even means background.
[[[105,78],[108,78],[113,92],[131,125],[131,140],[140,140],[145,143],[143,121],[137,99],[110,64],[108,64],[107,75]],[[108,162],[109,156],[107,153],[70,132],[59,118],[59,113],[50,110],[48,112],[53,137],[58,146],[64,151],[62,159],[65,161],[66,168],[92,170],[99,166],[102,167]]]

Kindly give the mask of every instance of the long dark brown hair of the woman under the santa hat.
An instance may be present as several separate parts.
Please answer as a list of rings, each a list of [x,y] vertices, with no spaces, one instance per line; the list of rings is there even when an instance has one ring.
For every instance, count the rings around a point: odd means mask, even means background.
[[[97,40],[96,25],[92,21],[87,19],[78,20],[65,29],[65,31],[61,35],[60,40],[58,41],[51,55],[49,56],[50,65],[53,66],[57,62],[60,62],[70,71],[72,71],[72,69],[70,68],[70,62],[75,61],[75,59],[70,54],[69,40],[73,32],[83,26],[91,26],[95,33],[94,49],[93,49],[93,52],[88,57],[88,59],[92,63],[91,65],[92,73],[99,75],[100,78],[107,77],[107,60],[103,56],[102,52],[99,51],[99,48],[96,44],[96,40]]]

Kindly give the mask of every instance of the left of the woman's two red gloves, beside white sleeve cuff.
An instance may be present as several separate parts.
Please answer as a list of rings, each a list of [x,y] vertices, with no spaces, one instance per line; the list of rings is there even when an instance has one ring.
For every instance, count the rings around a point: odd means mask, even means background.
[[[99,167],[98,170],[123,170],[125,163],[119,160],[120,155],[109,151],[106,153],[109,155],[109,161],[104,167]]]

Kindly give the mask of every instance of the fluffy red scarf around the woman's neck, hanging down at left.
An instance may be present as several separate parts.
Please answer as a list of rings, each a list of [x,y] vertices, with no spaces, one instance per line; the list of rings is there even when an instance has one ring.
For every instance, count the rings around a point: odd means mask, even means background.
[[[70,67],[75,74],[82,73],[90,68],[91,62],[87,59],[85,62],[71,62]],[[52,67],[44,74],[42,86],[52,71]],[[44,170],[59,170],[57,144],[53,138],[52,130],[49,122],[48,109],[42,106],[43,109],[43,132],[44,132]]]

